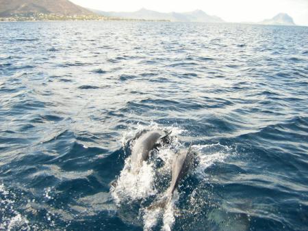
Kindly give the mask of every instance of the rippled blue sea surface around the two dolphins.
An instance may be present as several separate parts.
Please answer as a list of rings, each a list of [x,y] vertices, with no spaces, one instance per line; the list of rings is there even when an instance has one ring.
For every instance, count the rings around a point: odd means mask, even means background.
[[[0,230],[308,230],[307,38],[308,27],[0,23]],[[129,141],[144,129],[172,144],[132,175]],[[153,208],[191,142],[198,165]]]

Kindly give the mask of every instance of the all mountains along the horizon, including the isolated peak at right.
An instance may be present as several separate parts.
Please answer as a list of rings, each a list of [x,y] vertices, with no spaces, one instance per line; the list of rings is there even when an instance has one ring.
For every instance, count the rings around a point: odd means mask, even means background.
[[[33,16],[37,14],[55,14],[60,16],[86,16],[90,20],[107,16],[107,19],[122,18],[171,22],[224,23],[218,16],[211,16],[202,10],[192,12],[162,13],[140,9],[136,12],[105,12],[82,8],[68,0],[0,0],[0,18],[15,16]],[[84,18],[83,18],[84,19]],[[40,20],[40,18],[38,18]],[[263,25],[295,25],[293,19],[284,13],[266,19],[257,24]]]

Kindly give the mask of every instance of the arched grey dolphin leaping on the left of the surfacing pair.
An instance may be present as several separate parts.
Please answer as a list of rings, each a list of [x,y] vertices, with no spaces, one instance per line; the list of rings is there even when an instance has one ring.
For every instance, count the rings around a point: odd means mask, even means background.
[[[145,131],[136,139],[131,148],[131,170],[138,174],[142,162],[149,158],[151,150],[158,146],[159,141],[164,141],[170,133],[164,131]]]

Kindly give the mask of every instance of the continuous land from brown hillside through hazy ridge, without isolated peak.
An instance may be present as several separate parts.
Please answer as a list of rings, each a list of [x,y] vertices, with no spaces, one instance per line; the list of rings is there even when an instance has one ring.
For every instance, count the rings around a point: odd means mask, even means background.
[[[224,23],[202,10],[161,13],[142,8],[137,12],[103,12],[82,8],[68,0],[0,0],[0,21],[172,21]]]

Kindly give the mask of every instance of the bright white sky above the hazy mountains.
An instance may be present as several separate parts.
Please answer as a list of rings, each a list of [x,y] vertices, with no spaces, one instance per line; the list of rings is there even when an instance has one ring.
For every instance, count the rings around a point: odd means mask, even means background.
[[[146,8],[159,12],[203,10],[231,23],[259,22],[281,12],[297,25],[308,26],[308,0],[70,0],[103,11],[133,12]]]

